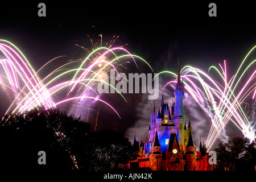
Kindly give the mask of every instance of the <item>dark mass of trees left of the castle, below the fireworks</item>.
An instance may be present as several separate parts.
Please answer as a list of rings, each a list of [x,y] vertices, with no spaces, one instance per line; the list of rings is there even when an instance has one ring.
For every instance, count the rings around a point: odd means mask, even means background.
[[[46,164],[38,164],[39,151]],[[31,110],[0,122],[1,169],[105,171],[127,163],[134,148],[122,133],[92,131],[90,123],[59,109]]]

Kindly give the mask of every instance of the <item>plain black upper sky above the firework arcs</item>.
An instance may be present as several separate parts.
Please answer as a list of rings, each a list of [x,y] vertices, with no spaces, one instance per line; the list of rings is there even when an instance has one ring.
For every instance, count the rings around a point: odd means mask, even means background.
[[[1,8],[0,31],[1,38],[16,44],[39,67],[64,53],[75,57],[74,44],[84,46],[88,34],[105,39],[119,35],[122,43],[147,52],[143,57],[152,61],[170,47],[173,59],[179,55],[189,62],[241,59],[254,45],[253,6],[216,4],[217,17],[209,17],[208,2],[46,2],[47,16],[39,17],[38,2],[7,3]]]

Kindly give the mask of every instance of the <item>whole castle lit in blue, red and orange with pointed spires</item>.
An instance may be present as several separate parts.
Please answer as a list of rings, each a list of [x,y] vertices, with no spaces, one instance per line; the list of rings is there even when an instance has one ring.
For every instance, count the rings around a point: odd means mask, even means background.
[[[183,114],[184,85],[180,79],[179,60],[174,96],[175,106],[169,106],[162,96],[157,113],[154,101],[146,141],[139,144],[134,135],[133,146],[137,148],[137,158],[129,162],[129,168],[150,168],[153,171],[212,171],[201,139],[199,151],[196,151],[190,118],[188,127],[186,126]]]

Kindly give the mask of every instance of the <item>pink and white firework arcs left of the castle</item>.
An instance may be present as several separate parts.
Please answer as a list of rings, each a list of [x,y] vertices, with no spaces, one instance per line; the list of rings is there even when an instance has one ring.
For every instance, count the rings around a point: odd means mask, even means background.
[[[85,59],[69,61],[69,63],[54,69],[44,78],[40,78],[39,73],[58,57],[48,61],[38,72],[35,72],[26,57],[14,44],[0,40],[0,51],[3,55],[0,59],[0,84],[6,93],[10,93],[12,90],[14,98],[6,113],[24,113],[35,107],[49,109],[66,102],[80,102],[79,105],[81,105],[81,102],[97,100],[108,105],[121,118],[113,106],[100,99],[97,85],[100,82],[105,82],[101,78],[101,74],[109,74],[110,69],[113,68],[119,75],[120,71],[127,69],[125,64],[130,62],[138,68],[135,59],[150,65],[141,57],[131,55],[123,47],[112,48],[114,38],[115,36],[109,44],[106,44],[108,47],[97,47],[97,44],[90,39],[93,45],[91,52],[89,49],[81,47],[88,53]],[[102,46],[102,39],[100,46]],[[113,85],[108,85],[113,87]],[[117,89],[115,91],[119,93]],[[64,94],[65,96],[63,96]],[[119,95],[126,101],[121,93]]]

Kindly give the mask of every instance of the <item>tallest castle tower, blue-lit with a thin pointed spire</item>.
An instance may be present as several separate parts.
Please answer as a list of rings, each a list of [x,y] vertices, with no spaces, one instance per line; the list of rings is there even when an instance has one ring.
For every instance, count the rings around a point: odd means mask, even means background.
[[[177,139],[179,141],[179,147],[181,151],[184,151],[184,123],[185,118],[183,117],[183,97],[184,97],[184,85],[180,80],[180,60],[178,59],[178,73],[177,73],[177,84],[176,89],[174,90],[175,96],[175,107],[174,107],[174,123],[176,127]]]

